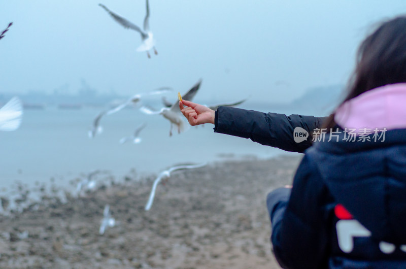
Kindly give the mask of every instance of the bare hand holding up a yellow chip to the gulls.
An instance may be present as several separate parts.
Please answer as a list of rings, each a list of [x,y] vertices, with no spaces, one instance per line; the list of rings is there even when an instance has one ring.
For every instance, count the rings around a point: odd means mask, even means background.
[[[187,107],[185,108],[183,105]],[[179,101],[179,108],[192,126],[204,123],[214,124],[215,111],[208,107],[182,99]]]

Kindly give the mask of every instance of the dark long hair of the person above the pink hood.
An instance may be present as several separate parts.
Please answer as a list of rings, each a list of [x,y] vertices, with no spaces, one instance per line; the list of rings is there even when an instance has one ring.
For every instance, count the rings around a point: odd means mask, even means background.
[[[406,15],[381,23],[361,42],[347,95],[340,105],[368,90],[400,82],[406,82]],[[334,125],[333,113],[324,128]]]

